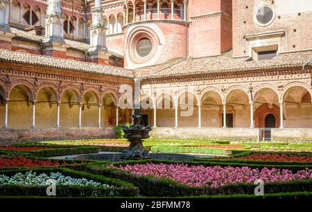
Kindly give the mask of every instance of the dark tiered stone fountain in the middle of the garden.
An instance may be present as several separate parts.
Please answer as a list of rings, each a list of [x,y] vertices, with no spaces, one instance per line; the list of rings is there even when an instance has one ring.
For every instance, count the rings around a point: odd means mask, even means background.
[[[132,114],[133,125],[130,127],[123,126],[123,136],[130,142],[128,150],[123,150],[123,159],[150,159],[150,153],[148,150],[144,150],[143,140],[148,139],[150,136],[148,133],[152,128],[150,125],[144,126],[142,120],[142,114],[140,109],[135,109],[135,113]]]

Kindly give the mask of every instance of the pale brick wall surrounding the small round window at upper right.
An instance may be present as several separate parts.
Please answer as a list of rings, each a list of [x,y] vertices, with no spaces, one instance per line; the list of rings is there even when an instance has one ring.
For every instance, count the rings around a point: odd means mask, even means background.
[[[233,0],[233,51],[234,57],[248,55],[248,41],[244,35],[285,30],[281,38],[281,51],[312,48],[312,1],[293,0]],[[269,26],[258,26],[254,13],[263,4],[275,10],[275,19]],[[245,52],[244,52],[245,51]]]

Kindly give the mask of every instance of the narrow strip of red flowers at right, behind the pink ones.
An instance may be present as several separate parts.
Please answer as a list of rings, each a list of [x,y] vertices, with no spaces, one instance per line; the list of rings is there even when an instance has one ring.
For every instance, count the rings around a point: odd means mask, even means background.
[[[300,154],[261,154],[253,153],[245,157],[236,157],[231,159],[252,160],[252,161],[289,161],[289,162],[311,162],[312,155]]]

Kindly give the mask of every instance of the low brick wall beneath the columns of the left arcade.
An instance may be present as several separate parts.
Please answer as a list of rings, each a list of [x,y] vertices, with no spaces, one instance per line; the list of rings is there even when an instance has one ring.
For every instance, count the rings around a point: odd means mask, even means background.
[[[114,130],[112,128],[68,128],[35,130],[0,129],[0,145],[10,145],[12,143],[24,143],[28,141],[105,138],[114,138]]]

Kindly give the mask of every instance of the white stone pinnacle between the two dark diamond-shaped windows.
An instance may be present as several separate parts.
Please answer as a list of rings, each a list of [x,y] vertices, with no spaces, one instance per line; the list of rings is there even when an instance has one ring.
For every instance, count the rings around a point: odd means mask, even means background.
[[[46,10],[46,40],[53,41],[56,37],[63,35],[63,15],[60,0],[48,0]]]

